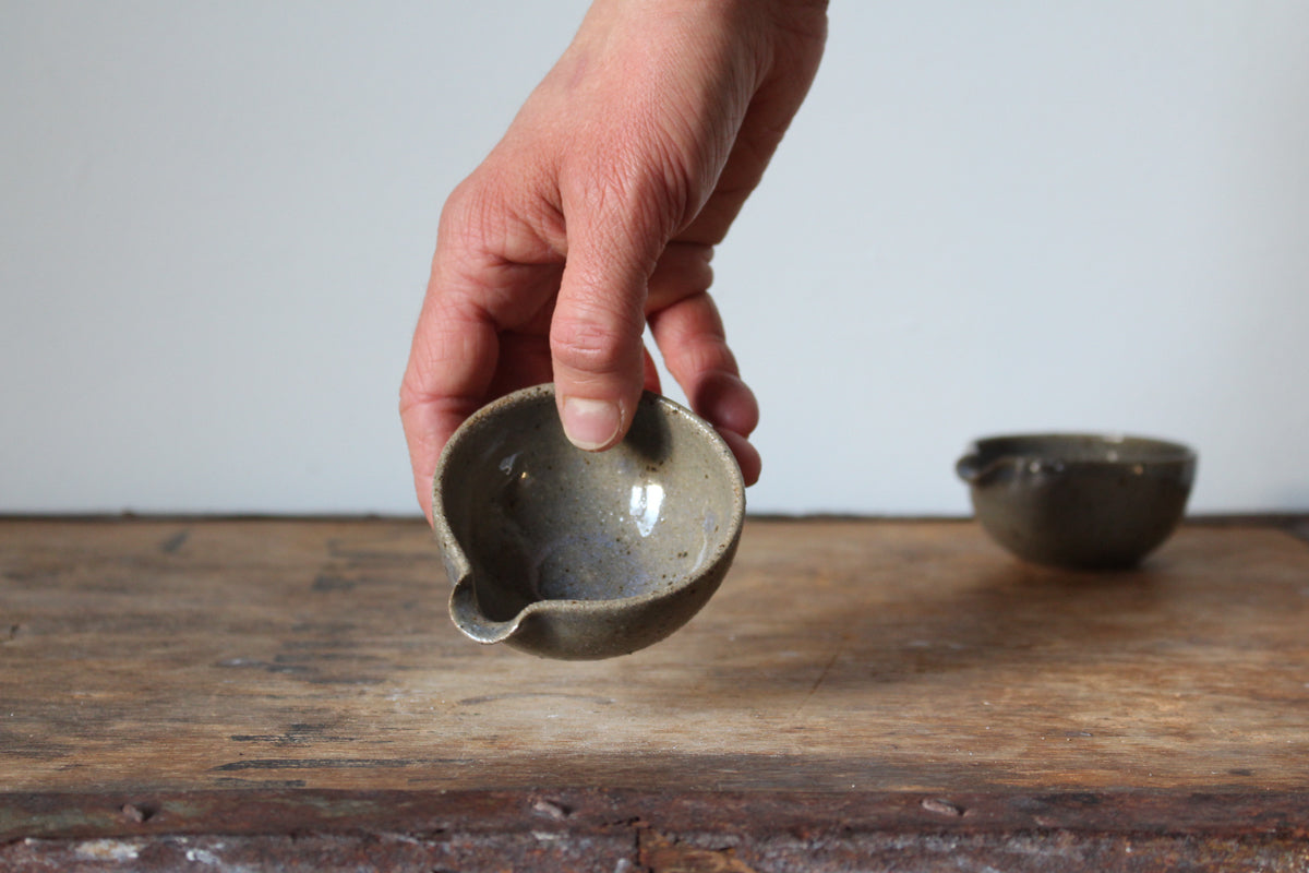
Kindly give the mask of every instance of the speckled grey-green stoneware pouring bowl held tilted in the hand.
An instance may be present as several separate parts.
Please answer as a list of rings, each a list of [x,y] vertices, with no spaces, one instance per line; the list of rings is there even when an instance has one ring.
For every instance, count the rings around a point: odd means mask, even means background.
[[[432,509],[465,635],[594,660],[657,643],[704,606],[736,555],[745,483],[717,432],[673,401],[647,393],[619,445],[583,452],[539,385],[456,432]]]

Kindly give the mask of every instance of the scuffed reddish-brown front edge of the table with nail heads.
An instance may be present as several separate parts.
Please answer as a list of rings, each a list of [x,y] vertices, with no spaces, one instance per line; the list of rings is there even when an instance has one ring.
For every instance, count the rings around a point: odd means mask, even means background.
[[[8,797],[0,835],[26,838],[0,838],[5,870],[1232,873],[1309,863],[1305,796],[297,789],[164,794],[149,804]],[[24,830],[13,831],[9,822],[20,818]]]

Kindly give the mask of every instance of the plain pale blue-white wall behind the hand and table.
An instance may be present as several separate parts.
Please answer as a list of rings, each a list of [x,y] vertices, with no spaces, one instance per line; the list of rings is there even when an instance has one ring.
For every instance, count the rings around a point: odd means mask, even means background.
[[[416,512],[445,194],[580,1],[0,0],[0,512]],[[974,436],[1309,509],[1309,4],[834,3],[715,259],[758,512],[963,513]]]

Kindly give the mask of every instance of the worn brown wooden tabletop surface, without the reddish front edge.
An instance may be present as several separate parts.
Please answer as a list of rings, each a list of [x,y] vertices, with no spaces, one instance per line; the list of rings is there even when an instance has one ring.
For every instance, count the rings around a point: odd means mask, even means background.
[[[0,522],[0,792],[1309,787],[1309,547],[1144,568],[971,522],[751,520],[709,606],[596,664],[459,636],[408,521]]]

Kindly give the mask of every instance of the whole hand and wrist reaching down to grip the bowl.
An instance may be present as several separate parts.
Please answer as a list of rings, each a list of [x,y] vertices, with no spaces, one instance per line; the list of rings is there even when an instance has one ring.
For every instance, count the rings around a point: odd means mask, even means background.
[[[456,428],[555,382],[602,452],[658,374],[759,478],[759,423],[709,297],[709,259],[813,81],[822,0],[596,0],[504,139],[441,212],[401,386],[419,504]]]

